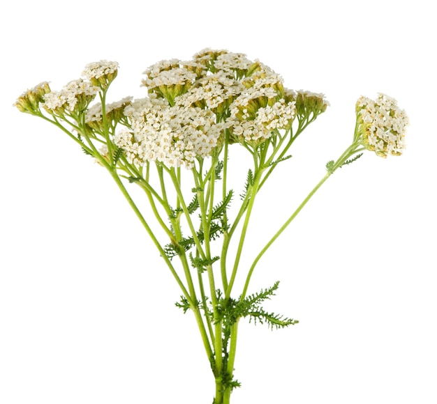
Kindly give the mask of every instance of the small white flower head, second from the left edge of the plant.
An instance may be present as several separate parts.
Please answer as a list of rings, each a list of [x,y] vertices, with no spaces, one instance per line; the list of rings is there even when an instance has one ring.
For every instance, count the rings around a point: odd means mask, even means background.
[[[51,91],[44,96],[43,107],[50,114],[62,110],[75,110],[77,102],[91,100],[98,93],[98,87],[92,86],[89,81],[77,79],[70,81],[61,91]]]

